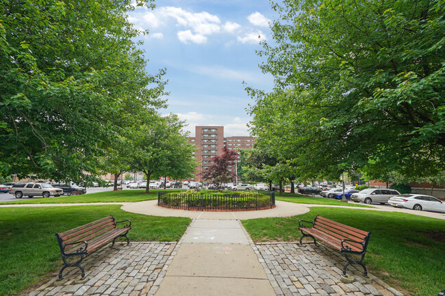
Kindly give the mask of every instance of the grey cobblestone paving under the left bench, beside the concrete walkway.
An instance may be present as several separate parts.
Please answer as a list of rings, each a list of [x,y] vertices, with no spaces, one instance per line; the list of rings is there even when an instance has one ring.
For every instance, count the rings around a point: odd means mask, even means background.
[[[54,275],[26,295],[154,295],[177,247],[176,242],[107,245],[84,259],[85,280],[80,280],[79,268],[68,267],[62,281],[58,282],[58,276]]]

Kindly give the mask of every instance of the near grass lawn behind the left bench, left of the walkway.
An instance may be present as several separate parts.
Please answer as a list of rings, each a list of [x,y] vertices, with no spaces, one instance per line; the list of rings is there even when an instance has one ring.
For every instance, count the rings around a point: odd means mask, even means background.
[[[0,295],[17,295],[62,266],[54,234],[112,214],[130,241],[178,241],[191,219],[128,213],[118,205],[0,208]]]

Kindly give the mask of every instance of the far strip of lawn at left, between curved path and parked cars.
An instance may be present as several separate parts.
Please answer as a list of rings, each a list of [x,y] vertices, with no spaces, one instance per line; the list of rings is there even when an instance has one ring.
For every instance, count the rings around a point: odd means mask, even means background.
[[[157,199],[160,189],[150,189],[146,194],[145,189],[103,191],[97,193],[81,194],[79,196],[59,196],[58,198],[21,198],[12,202],[1,202],[0,204],[66,204],[77,202],[141,202],[143,200]]]

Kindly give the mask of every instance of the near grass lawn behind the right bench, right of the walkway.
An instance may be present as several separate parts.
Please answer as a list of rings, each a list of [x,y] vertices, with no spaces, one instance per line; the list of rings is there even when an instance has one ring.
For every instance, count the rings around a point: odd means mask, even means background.
[[[298,220],[322,215],[372,232],[366,267],[377,277],[409,295],[431,296],[445,287],[445,220],[405,213],[311,208],[289,218],[242,221],[253,241],[297,241]],[[338,252],[335,250],[334,252]]]

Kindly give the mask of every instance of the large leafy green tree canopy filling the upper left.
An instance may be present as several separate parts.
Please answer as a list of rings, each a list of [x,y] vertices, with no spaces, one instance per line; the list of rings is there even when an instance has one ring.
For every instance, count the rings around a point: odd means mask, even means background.
[[[131,10],[130,0],[1,1],[1,174],[93,180],[129,112],[164,105],[164,70],[145,72]]]

